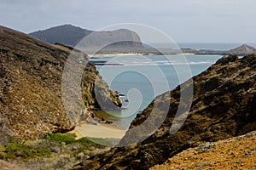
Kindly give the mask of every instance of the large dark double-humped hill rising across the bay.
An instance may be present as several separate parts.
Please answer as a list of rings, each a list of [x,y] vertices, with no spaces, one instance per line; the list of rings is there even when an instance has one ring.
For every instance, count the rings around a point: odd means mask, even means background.
[[[112,48],[121,47],[143,47],[140,37],[136,32],[119,29],[116,31],[90,31],[85,30],[77,26],[63,25],[55,26],[43,31],[35,31],[30,33],[32,37],[37,37],[38,39],[48,42],[50,44],[61,43],[67,46],[74,47],[80,42],[84,37],[88,36],[90,33],[94,33],[93,38],[89,38],[86,42],[86,46],[89,47],[99,47],[108,42],[113,43]],[[119,42],[122,40],[129,40],[127,42]]]

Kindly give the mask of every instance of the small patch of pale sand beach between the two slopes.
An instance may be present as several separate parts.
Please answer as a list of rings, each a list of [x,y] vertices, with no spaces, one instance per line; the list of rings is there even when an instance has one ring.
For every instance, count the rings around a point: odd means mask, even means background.
[[[83,123],[69,133],[75,133],[77,139],[83,137],[102,138],[102,139],[122,139],[125,136],[126,130],[120,129],[113,125],[104,123],[97,123],[93,125],[90,123]]]

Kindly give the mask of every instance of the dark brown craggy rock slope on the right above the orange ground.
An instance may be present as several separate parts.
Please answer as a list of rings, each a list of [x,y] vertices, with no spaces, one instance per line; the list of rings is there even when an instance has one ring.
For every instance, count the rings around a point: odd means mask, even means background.
[[[170,134],[169,130],[177,112],[180,87],[174,89],[171,96],[162,94],[155,99],[157,105],[171,101],[166,120],[157,132],[141,144],[113,148],[104,155],[91,157],[77,169],[148,169],[189,147],[228,139],[256,129],[255,55],[242,59],[230,55],[219,59],[207,71],[193,77],[193,81],[194,97],[189,116],[177,133]],[[131,127],[145,122],[153,104],[137,115]],[[139,132],[126,133],[121,142],[129,143],[131,138],[142,136]]]

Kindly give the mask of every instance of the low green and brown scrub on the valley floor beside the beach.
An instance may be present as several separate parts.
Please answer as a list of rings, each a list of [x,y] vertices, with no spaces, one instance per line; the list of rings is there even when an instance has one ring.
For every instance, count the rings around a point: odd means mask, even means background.
[[[93,139],[96,141],[101,140],[101,143],[108,143],[107,139]],[[61,148],[61,143],[67,144],[63,147],[62,151],[55,151],[56,148]],[[76,149],[73,149],[76,148]],[[77,156],[79,153],[84,153],[86,150],[96,150],[100,148],[105,148],[101,144],[96,144],[89,138],[81,138],[76,140],[75,134],[67,133],[47,133],[44,139],[38,142],[27,141],[21,143],[9,143],[5,145],[0,145],[0,159],[2,160],[13,160],[19,157],[23,161],[28,161],[32,158],[38,159],[38,157],[49,157],[52,154],[61,154],[65,152],[71,156]]]

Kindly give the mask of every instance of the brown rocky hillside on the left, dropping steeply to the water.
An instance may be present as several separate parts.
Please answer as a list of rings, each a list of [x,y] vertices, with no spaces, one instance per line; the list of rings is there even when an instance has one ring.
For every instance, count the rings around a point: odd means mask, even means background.
[[[0,26],[0,143],[38,139],[44,133],[74,128],[78,119],[71,120],[61,99],[61,77],[69,54],[70,51]],[[85,54],[77,54],[86,59]],[[82,94],[87,109],[100,107],[95,98],[96,86],[100,86],[98,93],[106,103],[121,105],[101,78],[95,84],[96,77],[100,78],[95,66],[86,65]]]

